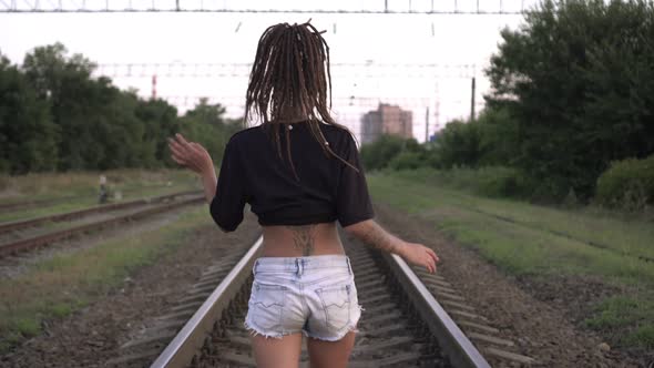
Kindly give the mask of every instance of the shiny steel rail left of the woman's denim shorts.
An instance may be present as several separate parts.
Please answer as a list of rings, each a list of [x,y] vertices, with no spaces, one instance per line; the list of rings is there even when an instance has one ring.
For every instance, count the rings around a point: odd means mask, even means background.
[[[223,310],[227,308],[243,283],[249,277],[252,266],[263,243],[264,238],[259,236],[245,256],[238,260],[200,309],[182,327],[180,333],[152,364],[151,368],[186,367],[191,364],[193,357],[204,344],[206,335],[213,329],[214,323],[221,318]]]

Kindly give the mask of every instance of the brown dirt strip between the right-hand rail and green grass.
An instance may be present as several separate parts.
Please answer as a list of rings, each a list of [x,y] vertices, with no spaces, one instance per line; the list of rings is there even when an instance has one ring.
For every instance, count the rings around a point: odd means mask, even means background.
[[[602,339],[575,327],[561,305],[539,300],[528,284],[501,274],[474,252],[440,234],[432,222],[386,205],[376,206],[377,219],[407,241],[431,246],[440,256],[438,272],[502,335],[515,341],[524,355],[543,367],[640,367],[619,351],[606,351]],[[535,290],[530,290],[535,292]],[[587,294],[587,293],[586,293]],[[574,298],[574,293],[562,293]],[[570,304],[575,305],[575,304]]]

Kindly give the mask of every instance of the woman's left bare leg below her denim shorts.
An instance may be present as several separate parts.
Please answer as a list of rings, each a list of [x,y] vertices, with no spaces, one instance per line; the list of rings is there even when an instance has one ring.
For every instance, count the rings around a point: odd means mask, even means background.
[[[299,365],[302,334],[272,338],[252,336],[252,349],[257,368],[294,368]]]

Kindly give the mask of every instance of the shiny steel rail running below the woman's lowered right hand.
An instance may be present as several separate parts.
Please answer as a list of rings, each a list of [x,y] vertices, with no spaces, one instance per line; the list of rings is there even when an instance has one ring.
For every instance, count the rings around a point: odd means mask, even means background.
[[[407,263],[395,254],[384,253],[382,257],[405,287],[408,297],[431,334],[438,339],[438,344],[452,366],[457,368],[490,368],[481,352],[461,331]]]

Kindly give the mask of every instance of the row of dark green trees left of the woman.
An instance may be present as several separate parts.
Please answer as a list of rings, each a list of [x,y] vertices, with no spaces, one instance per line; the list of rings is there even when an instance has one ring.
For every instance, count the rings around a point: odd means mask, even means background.
[[[175,166],[166,140],[177,132],[219,162],[242,121],[206,100],[178,115],[166,101],[123,91],[61,43],[39,47],[21,65],[0,53],[0,173]]]

